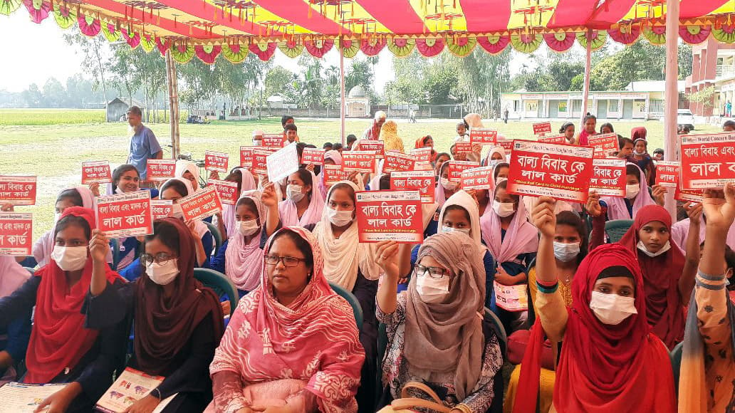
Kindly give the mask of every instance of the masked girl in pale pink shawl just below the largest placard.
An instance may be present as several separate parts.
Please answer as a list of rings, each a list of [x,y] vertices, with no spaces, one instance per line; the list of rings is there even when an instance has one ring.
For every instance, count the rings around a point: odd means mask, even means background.
[[[482,240],[495,259],[495,275],[487,279],[487,290],[494,290],[493,283],[503,285],[526,284],[526,267],[536,255],[539,237],[536,227],[528,222],[526,206],[518,195],[506,192],[507,181],[495,187],[492,213],[480,218]],[[509,333],[523,328],[528,312],[506,312],[496,308],[495,294],[488,295],[486,306],[498,314]]]

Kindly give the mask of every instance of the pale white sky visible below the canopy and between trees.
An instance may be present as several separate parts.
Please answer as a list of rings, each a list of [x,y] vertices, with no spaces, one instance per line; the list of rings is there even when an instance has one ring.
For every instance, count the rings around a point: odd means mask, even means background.
[[[4,64],[2,67],[0,90],[21,92],[34,82],[41,87],[50,77],[55,77],[65,84],[68,77],[83,72],[83,56],[76,47],[69,46],[64,41],[64,32],[65,30],[60,29],[51,16],[41,24],[34,24],[24,10],[18,10],[10,16],[0,15],[0,39],[4,39],[0,41],[0,56],[5,59],[12,57],[12,64]],[[391,55],[387,48],[379,54],[380,60],[375,71],[375,87],[378,93],[382,93],[386,83],[395,78]],[[337,49],[329,51],[324,59],[327,66],[340,65],[340,54]],[[294,64],[295,59],[285,57],[279,51],[276,51],[274,60],[276,65],[298,71],[298,67]],[[514,54],[511,73],[517,73],[521,65],[528,62],[530,62],[528,55]],[[345,67],[348,65],[349,60],[345,59]]]

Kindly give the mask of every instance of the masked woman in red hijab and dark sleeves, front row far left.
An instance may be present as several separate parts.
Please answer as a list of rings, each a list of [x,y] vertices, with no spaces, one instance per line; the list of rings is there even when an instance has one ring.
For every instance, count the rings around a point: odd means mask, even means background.
[[[107,245],[90,242],[94,222],[91,209],[65,209],[54,229],[49,264],[0,300],[0,325],[36,308],[23,381],[69,383],[39,409],[89,412],[123,364],[127,324],[120,320],[107,328],[89,328],[82,314],[93,274],[105,282],[121,279],[105,262]]]

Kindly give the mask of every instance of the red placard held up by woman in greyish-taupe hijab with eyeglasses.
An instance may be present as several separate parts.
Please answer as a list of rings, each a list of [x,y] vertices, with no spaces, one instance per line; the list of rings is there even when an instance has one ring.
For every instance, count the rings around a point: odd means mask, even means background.
[[[355,194],[360,243],[423,242],[418,191],[365,191]]]

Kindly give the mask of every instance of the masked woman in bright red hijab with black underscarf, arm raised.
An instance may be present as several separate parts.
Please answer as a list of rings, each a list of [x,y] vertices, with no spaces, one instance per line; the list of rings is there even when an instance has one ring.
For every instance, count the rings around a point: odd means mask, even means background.
[[[634,254],[602,245],[581,262],[572,281],[573,305],[557,290],[553,198],[539,198],[533,220],[541,233],[537,305],[523,359],[514,413],[535,412],[543,335],[563,340],[552,412],[676,412],[666,346],[645,317],[643,276]]]

